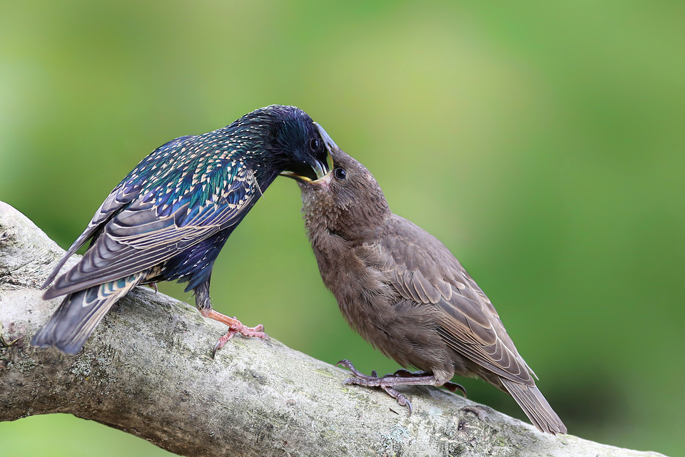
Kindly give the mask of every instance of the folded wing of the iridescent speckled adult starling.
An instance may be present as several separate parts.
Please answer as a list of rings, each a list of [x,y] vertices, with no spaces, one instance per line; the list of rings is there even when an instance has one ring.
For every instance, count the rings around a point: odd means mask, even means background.
[[[245,168],[225,187],[208,192],[208,198],[200,200],[202,205],[197,207],[190,207],[188,203],[181,205],[181,202],[160,205],[156,199],[163,190],[166,189],[138,195],[128,207],[121,210],[120,205],[118,212],[114,210],[81,261],[57,279],[45,292],[44,299],[127,277],[159,265],[239,222],[260,195],[255,176]],[[116,198],[112,201],[116,201]],[[98,214],[100,212],[96,217]],[[100,219],[104,220],[106,216],[102,215]],[[97,227],[91,229],[89,225],[77,242],[81,240],[83,244],[97,230]],[[78,247],[72,247],[70,252],[76,249]]]

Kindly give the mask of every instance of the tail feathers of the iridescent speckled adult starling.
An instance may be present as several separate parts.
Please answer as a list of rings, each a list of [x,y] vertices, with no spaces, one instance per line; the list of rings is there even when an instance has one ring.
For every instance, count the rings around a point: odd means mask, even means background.
[[[141,272],[68,294],[31,344],[55,346],[65,354],[76,354],[112,305],[145,277],[146,272]]]

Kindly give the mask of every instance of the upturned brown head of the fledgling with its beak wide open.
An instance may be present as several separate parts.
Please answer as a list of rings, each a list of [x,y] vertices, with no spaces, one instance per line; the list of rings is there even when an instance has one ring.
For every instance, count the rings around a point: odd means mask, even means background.
[[[346,240],[364,237],[392,215],[385,195],[364,165],[344,153],[317,125],[333,159],[330,172],[314,181],[300,181],[302,210],[310,234],[328,230]]]

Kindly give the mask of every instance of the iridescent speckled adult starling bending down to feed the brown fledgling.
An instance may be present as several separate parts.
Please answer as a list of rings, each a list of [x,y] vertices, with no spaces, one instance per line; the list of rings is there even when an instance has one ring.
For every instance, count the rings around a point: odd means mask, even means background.
[[[214,351],[233,334],[268,338],[213,311],[212,268],[233,229],[281,173],[315,180],[328,171],[328,150],[309,115],[268,106],[203,135],[176,138],[154,150],[112,190],[43,287],[79,247],[77,265],[43,298],[66,294],[31,340],[76,354],[108,309],[138,284],[178,279],[194,290],[204,317],[228,325]]]

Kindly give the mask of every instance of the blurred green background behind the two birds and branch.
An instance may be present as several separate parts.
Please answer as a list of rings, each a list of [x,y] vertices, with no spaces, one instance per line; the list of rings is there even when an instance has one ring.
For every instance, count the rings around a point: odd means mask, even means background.
[[[455,252],[571,433],[685,455],[684,19],[674,1],[1,0],[0,200],[68,247],[158,145],[300,106]],[[397,368],[323,287],[293,181],[214,271],[220,312],[318,359]],[[0,423],[0,442],[164,453],[64,415]]]

